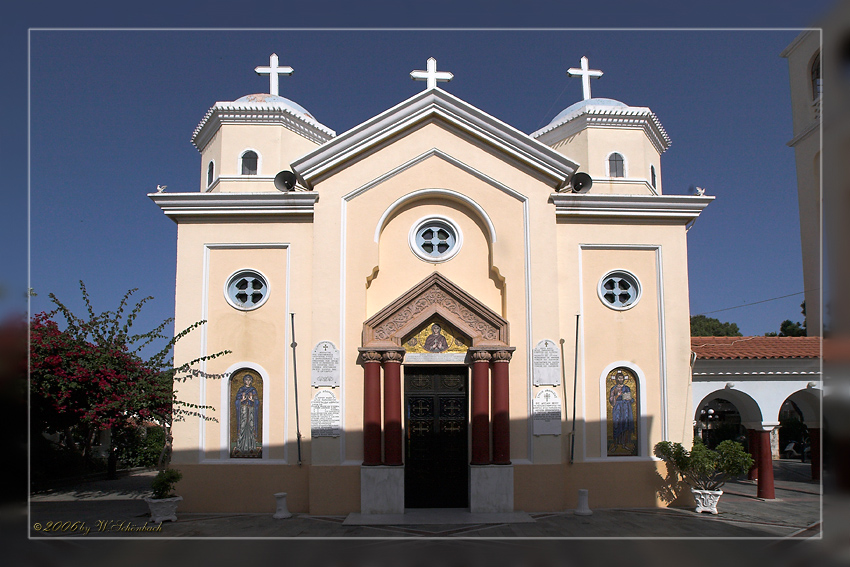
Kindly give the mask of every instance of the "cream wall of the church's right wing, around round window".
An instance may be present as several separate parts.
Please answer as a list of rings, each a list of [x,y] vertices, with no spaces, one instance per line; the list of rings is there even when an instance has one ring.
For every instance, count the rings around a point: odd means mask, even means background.
[[[601,380],[606,367],[619,361],[629,363],[645,378],[641,395],[649,435],[641,437],[640,458],[650,458],[652,446],[665,438],[665,429],[666,438],[689,443],[684,227],[595,221],[566,221],[558,227],[559,279],[566,288],[581,293],[565,296],[561,304],[561,327],[572,339],[567,341],[572,348],[566,353],[570,369],[575,364],[576,313],[581,313],[576,458],[610,460],[602,452],[607,415]],[[615,269],[632,272],[641,283],[640,301],[626,311],[609,309],[597,294],[599,280]]]

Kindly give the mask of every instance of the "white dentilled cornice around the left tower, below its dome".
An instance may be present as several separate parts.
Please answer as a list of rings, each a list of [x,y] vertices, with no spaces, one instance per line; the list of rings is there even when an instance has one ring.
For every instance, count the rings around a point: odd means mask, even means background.
[[[301,113],[267,102],[217,102],[192,132],[192,144],[203,151],[222,124],[277,124],[316,144],[324,144],[336,132]]]

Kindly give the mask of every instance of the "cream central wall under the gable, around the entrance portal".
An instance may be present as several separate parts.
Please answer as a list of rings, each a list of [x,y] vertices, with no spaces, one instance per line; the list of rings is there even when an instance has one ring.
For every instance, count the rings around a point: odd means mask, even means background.
[[[388,179],[380,179],[387,171],[434,147],[486,174],[503,187],[482,181],[437,156]],[[371,186],[373,182],[375,184]],[[497,235],[492,252],[487,250],[480,212],[462,200],[450,200],[450,204],[440,206],[428,200],[412,202],[390,217],[380,233],[380,243],[375,242],[378,221],[391,203],[414,191],[431,188],[468,195],[485,210]],[[358,189],[367,190],[357,194]],[[537,260],[532,261],[528,268],[523,260],[518,261],[517,258],[524,258],[528,247],[535,250],[551,248],[554,211],[547,203],[551,187],[529,176],[523,168],[506,163],[480,143],[458,137],[441,125],[427,124],[329,177],[317,186],[317,190],[322,197],[317,206],[314,234],[316,250],[321,250],[322,258],[320,262],[316,257],[314,281],[316,289],[321,289],[322,294],[327,296],[327,301],[314,306],[314,325],[327,329],[328,336],[314,339],[326,339],[341,332],[336,321],[340,311],[344,312],[345,332],[340,342],[346,349],[343,353],[345,420],[346,423],[357,424],[357,430],[341,440],[345,444],[341,448],[344,459],[352,463],[362,460],[359,427],[363,415],[363,369],[356,364],[355,349],[360,346],[363,321],[435,269],[511,323],[511,344],[517,347],[511,361],[511,414],[515,419],[511,432],[512,455],[527,458],[525,418],[529,406],[526,371],[529,333],[526,305],[527,301],[536,300],[527,298],[526,281],[537,277],[535,270],[540,272],[541,281],[554,281],[556,274],[551,256],[532,255]],[[432,212],[446,213],[461,224],[464,232],[464,245],[459,255],[438,264],[436,268],[419,260],[408,247],[408,231],[412,222]],[[340,234],[343,223],[344,237]],[[547,237],[547,231],[550,237]],[[340,248],[343,242],[344,258]],[[343,263],[345,270],[341,272]],[[498,269],[499,277],[505,279],[504,301],[500,282],[496,281],[498,277],[494,280],[490,264]],[[474,268],[470,269],[470,266]],[[528,275],[527,269],[530,270]],[[550,273],[544,273],[547,270]],[[341,273],[344,274],[342,279]],[[340,291],[342,286],[347,290],[345,294]],[[551,313],[551,304],[557,301],[557,291],[546,290],[537,295],[543,307],[541,313]],[[540,316],[541,323],[545,319],[544,315]],[[554,314],[550,329],[553,330],[541,330],[540,334],[556,334],[557,316]]]

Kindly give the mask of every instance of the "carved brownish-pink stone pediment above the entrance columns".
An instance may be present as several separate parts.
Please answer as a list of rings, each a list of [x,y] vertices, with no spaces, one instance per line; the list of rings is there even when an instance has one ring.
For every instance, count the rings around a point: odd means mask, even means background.
[[[508,322],[435,272],[363,323],[363,348],[392,349],[438,316],[470,338],[472,347],[508,347]]]

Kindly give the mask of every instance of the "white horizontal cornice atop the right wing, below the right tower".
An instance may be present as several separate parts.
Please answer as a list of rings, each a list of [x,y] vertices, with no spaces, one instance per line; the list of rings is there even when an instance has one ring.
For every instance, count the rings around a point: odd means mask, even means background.
[[[667,219],[690,222],[714,197],[553,193],[556,217]]]

